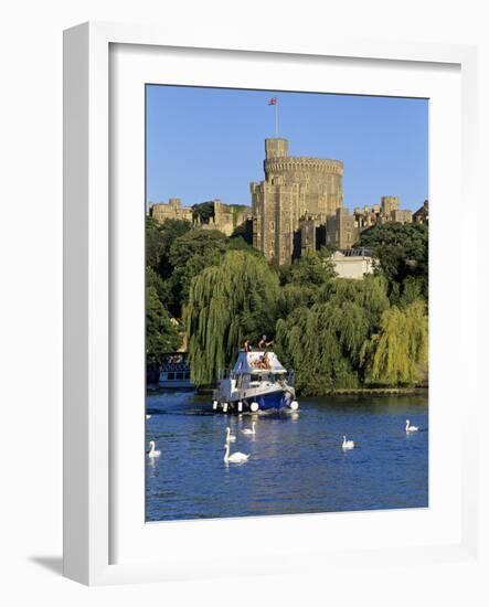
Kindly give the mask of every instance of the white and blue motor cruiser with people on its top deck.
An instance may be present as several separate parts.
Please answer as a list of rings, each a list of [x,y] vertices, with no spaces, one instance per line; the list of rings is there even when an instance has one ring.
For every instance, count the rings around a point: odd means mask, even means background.
[[[223,413],[277,409],[297,411],[294,372],[274,352],[240,352],[236,364],[220,374],[212,406]]]

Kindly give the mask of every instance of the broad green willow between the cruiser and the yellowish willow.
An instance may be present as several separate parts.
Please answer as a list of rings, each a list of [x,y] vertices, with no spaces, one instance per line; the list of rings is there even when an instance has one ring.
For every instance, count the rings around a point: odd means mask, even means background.
[[[328,394],[363,382],[363,344],[389,309],[384,278],[336,278],[316,290],[286,285],[279,309],[288,315],[277,321],[277,353],[295,370],[299,392]]]

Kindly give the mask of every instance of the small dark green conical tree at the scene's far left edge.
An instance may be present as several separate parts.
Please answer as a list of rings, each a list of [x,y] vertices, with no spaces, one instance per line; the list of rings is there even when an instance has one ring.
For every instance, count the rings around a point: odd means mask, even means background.
[[[146,288],[146,356],[161,361],[161,354],[180,347],[181,338],[155,287]]]

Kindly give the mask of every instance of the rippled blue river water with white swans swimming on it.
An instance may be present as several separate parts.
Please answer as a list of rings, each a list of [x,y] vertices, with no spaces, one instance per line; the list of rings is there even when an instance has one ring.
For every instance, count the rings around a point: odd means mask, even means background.
[[[152,394],[147,409],[161,450],[146,459],[148,521],[428,505],[427,394],[302,398],[298,414],[253,416],[252,438],[251,415],[214,414],[206,396]],[[223,461],[227,425],[246,464]]]

